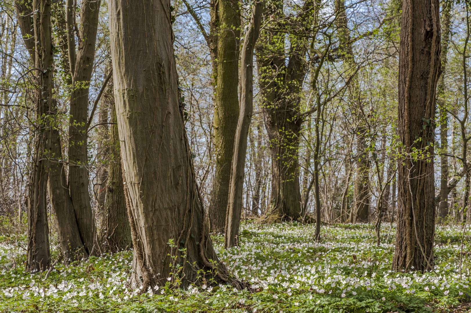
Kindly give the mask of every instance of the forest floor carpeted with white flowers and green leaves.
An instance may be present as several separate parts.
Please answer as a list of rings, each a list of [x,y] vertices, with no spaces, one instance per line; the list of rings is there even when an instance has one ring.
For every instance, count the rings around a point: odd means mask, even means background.
[[[0,312],[466,312],[471,311],[471,228],[437,226],[435,272],[391,272],[395,228],[384,225],[376,246],[370,224],[283,223],[241,226],[240,247],[222,249],[234,276],[259,292],[226,285],[160,288],[138,293],[126,285],[132,251],[25,273],[24,234],[0,235]],[[52,246],[54,246],[54,241]],[[53,257],[57,256],[53,250]],[[460,271],[460,255],[461,271]]]

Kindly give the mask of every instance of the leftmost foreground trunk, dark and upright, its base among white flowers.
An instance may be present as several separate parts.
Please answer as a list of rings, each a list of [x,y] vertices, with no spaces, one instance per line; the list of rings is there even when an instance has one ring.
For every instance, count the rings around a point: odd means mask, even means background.
[[[32,15],[32,24],[20,24],[23,38],[28,33],[23,27],[34,30],[34,67],[35,72],[34,108],[36,119],[44,119],[49,115],[52,96],[52,66],[54,62],[52,36],[50,29],[50,0],[33,0],[32,6],[25,5],[23,15]],[[34,14],[32,14],[34,12]],[[29,43],[26,43],[28,48]],[[32,169],[28,184],[28,244],[26,271],[44,271],[49,268],[49,227],[46,209],[46,187],[49,161],[46,156],[46,140],[48,130],[43,123],[35,125],[34,150]]]

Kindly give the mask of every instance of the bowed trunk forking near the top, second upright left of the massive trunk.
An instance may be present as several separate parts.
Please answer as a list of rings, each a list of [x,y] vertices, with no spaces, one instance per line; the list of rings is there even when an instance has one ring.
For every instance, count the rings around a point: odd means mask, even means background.
[[[81,240],[89,255],[97,254],[99,249],[89,192],[87,128],[89,83],[95,57],[100,2],[100,0],[82,0],[80,13],[81,38],[78,40],[79,47],[75,60],[75,69],[73,70],[74,85],[70,96],[69,191]],[[69,23],[68,17],[67,22]],[[72,50],[74,48],[69,47],[69,53],[72,53]],[[72,62],[71,69],[73,69]]]

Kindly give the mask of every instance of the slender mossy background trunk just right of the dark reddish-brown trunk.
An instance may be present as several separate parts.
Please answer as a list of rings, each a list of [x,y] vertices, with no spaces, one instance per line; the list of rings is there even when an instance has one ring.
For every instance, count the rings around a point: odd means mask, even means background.
[[[442,5],[443,17],[443,39],[441,50],[441,66],[445,72],[447,66],[448,40],[450,39],[450,11],[452,2],[447,1]],[[447,111],[442,106],[445,105],[445,75],[441,75],[437,86],[437,101],[439,102],[440,118],[440,151],[447,153],[448,147],[448,119]],[[440,155],[441,179],[440,179],[440,204],[439,204],[439,222],[448,216],[448,157]]]

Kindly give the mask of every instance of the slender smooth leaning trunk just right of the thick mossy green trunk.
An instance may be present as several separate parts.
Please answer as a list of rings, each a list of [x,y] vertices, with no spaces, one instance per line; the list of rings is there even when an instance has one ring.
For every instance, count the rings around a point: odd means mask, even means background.
[[[241,98],[240,113],[235,133],[234,155],[232,159],[229,203],[225,226],[225,247],[237,244],[240,215],[242,212],[242,192],[244,189],[245,155],[247,153],[247,136],[253,113],[253,48],[259,37],[263,2],[255,2],[252,17],[245,34],[241,58]]]

